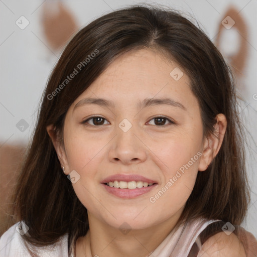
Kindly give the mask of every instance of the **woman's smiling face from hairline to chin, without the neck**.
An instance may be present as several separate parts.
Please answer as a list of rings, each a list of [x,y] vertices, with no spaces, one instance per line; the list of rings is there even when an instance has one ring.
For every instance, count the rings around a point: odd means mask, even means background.
[[[200,108],[189,84],[175,62],[131,51],[73,102],[63,165],[66,174],[73,171],[89,217],[140,229],[180,216],[206,167]]]

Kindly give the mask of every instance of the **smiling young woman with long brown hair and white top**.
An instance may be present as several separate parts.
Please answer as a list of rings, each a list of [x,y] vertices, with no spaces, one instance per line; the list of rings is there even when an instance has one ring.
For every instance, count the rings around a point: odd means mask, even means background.
[[[199,28],[155,7],[102,16],[50,76],[2,255],[255,256],[242,135]]]

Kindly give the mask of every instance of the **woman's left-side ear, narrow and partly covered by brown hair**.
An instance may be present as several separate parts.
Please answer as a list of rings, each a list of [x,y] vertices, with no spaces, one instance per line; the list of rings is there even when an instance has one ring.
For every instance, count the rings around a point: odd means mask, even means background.
[[[64,170],[68,172],[69,166],[68,166],[66,152],[63,144],[60,141],[60,138],[58,137],[58,135],[56,135],[55,127],[53,126],[53,124],[51,124],[46,127],[46,130],[54,145],[56,154],[60,162],[61,169],[63,169],[64,167]]]

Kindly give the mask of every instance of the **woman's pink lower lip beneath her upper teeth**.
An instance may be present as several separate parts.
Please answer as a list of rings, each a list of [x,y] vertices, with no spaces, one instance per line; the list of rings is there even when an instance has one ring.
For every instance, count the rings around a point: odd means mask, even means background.
[[[127,188],[123,189],[123,188],[109,187],[105,184],[102,184],[102,185],[109,193],[111,193],[117,197],[126,198],[126,199],[135,198],[137,196],[146,194],[157,186],[157,184],[154,184],[149,187],[142,187],[142,188],[135,188],[135,189],[127,189]]]

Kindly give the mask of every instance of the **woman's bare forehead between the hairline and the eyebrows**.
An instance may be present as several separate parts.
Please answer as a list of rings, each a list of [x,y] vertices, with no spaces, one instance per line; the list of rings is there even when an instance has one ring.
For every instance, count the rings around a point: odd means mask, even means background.
[[[109,99],[116,108],[137,107],[147,98],[171,98],[186,109],[198,107],[183,67],[148,49],[133,50],[112,61],[73,102],[73,108],[88,97]]]

